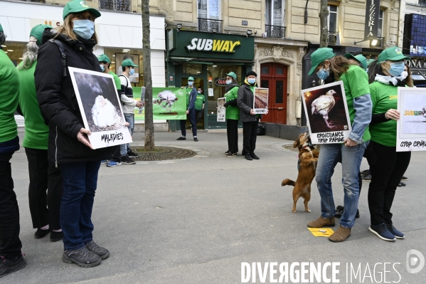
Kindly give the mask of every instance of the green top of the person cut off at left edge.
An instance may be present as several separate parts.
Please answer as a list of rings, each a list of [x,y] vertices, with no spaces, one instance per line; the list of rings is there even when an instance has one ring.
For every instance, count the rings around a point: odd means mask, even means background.
[[[19,75],[14,63],[0,50],[0,142],[18,135],[15,110],[18,107]]]

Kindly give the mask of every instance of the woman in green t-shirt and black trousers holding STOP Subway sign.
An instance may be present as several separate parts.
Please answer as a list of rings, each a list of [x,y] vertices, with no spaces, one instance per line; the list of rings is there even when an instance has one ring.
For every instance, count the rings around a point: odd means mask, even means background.
[[[371,143],[376,163],[370,164],[371,183],[368,188],[368,208],[371,226],[369,231],[385,241],[404,238],[393,226],[390,208],[396,187],[410,164],[411,152],[396,152],[396,125],[398,112],[398,87],[405,87],[407,74],[404,61],[410,58],[393,46],[378,56],[375,81],[370,84],[373,117],[370,125]]]

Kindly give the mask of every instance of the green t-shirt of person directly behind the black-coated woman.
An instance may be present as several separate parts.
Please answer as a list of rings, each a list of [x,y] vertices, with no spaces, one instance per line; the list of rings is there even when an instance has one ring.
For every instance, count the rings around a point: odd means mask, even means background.
[[[31,68],[19,70],[19,106],[25,122],[25,136],[23,147],[31,149],[48,149],[49,127],[44,124],[40,107],[37,101],[36,83],[34,82],[34,71],[37,61]],[[21,62],[18,68],[23,65]]]

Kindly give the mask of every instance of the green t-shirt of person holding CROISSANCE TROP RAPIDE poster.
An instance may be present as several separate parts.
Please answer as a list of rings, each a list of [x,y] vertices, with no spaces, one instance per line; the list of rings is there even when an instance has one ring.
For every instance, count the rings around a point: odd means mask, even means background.
[[[344,83],[349,118],[351,119],[351,125],[353,125],[353,119],[355,118],[356,112],[353,108],[353,99],[370,93],[370,88],[368,87],[368,75],[363,68],[351,65],[348,71],[341,75],[340,80]],[[363,141],[367,142],[370,139],[371,135],[367,127],[363,135]]]

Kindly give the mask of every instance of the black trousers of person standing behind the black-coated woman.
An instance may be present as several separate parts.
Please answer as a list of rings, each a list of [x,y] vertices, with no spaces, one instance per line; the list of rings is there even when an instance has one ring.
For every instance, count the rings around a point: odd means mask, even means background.
[[[33,228],[49,225],[51,229],[58,230],[63,192],[60,169],[49,165],[47,150],[25,148],[25,153],[30,176],[28,200]]]

